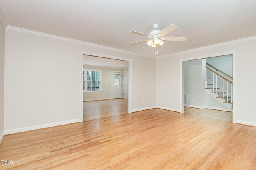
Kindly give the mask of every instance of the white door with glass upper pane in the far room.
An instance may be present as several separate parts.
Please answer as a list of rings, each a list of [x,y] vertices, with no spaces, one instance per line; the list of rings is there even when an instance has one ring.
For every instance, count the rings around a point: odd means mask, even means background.
[[[122,98],[122,72],[111,71],[111,99]]]

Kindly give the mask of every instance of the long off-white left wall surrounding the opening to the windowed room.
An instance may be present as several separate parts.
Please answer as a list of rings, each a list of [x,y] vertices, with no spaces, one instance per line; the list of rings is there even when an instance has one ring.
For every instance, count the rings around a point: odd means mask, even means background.
[[[5,47],[7,134],[80,121],[80,51],[131,59],[132,111],[156,106],[155,59],[12,26]]]

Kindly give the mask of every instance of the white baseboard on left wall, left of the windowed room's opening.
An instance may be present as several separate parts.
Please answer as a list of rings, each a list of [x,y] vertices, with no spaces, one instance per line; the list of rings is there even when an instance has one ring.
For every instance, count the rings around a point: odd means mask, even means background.
[[[62,121],[62,122],[56,122],[56,123],[48,123],[48,124],[37,125],[37,126],[32,126],[32,127],[16,128],[16,129],[12,129],[12,130],[5,130],[4,134],[5,135],[14,134],[14,133],[26,132],[26,131],[30,131],[30,130],[37,130],[37,129],[41,129],[41,128],[48,128],[48,127],[55,127],[55,126],[65,125],[65,124],[70,124],[70,123],[76,123],[76,122],[80,122],[80,119],[74,119],[74,120]]]

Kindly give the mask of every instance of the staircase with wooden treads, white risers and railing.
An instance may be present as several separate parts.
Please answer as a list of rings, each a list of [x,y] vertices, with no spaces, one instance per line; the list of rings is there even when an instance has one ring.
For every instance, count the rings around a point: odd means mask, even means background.
[[[205,91],[216,101],[221,103],[226,111],[233,110],[233,83],[232,77],[226,75],[222,71],[219,71],[215,67],[206,65],[206,83]]]

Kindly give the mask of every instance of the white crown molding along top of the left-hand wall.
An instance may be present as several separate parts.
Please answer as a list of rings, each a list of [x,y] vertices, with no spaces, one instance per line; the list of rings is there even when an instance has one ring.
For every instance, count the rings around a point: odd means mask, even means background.
[[[126,53],[126,54],[130,54],[130,55],[137,55],[137,56],[141,56],[141,57],[154,58],[150,55],[144,55],[144,54],[141,54],[141,53],[134,53],[134,52],[131,52],[131,51],[126,51],[126,50],[122,50],[122,49],[107,47],[107,46],[104,46],[104,45],[98,45],[98,44],[94,44],[94,43],[83,42],[83,41],[80,41],[80,40],[74,40],[74,39],[71,39],[71,38],[56,36],[56,35],[47,34],[47,33],[44,33],[44,32],[28,30],[26,28],[20,28],[20,27],[16,27],[16,26],[8,25],[6,27],[6,29],[17,31],[17,32],[23,32],[23,33],[26,33],[26,34],[33,34],[33,35],[36,35],[36,36],[43,36],[43,37],[47,37],[47,38],[53,38],[53,39],[57,39],[57,40],[62,40],[62,41],[67,41],[67,42],[72,42],[72,43],[78,43],[78,44],[87,45],[87,46],[91,46],[91,47],[97,47],[97,48],[106,49],[106,50],[110,50],[110,51]]]

